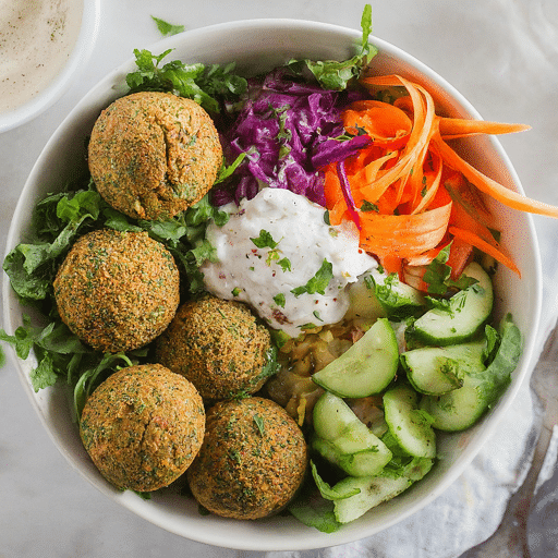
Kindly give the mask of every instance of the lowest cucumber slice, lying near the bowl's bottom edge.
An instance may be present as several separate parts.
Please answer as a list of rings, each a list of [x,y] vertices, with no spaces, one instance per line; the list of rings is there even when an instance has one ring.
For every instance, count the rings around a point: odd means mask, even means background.
[[[390,476],[366,476],[360,478],[348,476],[339,481],[335,488],[343,493],[355,489],[360,492],[348,498],[333,500],[336,519],[339,523],[349,523],[383,501],[395,498],[409,488],[411,484],[413,482],[404,476],[397,478]]]

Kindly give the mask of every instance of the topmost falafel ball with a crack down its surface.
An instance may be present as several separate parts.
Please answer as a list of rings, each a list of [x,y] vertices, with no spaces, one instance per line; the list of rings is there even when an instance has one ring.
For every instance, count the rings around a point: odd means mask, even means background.
[[[222,163],[209,114],[171,93],[117,99],[92,131],[92,178],[105,201],[135,219],[173,217],[202,199]]]

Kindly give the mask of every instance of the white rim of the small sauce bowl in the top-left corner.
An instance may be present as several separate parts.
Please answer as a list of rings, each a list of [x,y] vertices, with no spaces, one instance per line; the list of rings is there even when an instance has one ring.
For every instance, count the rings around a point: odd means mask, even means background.
[[[85,68],[99,31],[100,0],[71,0],[70,3],[80,4],[75,10],[82,13],[80,33],[71,47],[68,61],[50,81],[45,82],[46,86],[43,90],[29,97],[23,105],[0,111],[0,133],[29,122],[51,107]],[[74,9],[73,5],[72,9]],[[44,63],[48,65],[49,60],[45,60]]]

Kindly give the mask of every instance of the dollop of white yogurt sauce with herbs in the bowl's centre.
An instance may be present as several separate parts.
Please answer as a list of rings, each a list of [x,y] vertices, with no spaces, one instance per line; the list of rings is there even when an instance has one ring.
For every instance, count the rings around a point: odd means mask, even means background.
[[[354,226],[331,227],[324,213],[304,196],[281,189],[267,187],[242,201],[227,225],[211,222],[207,229],[218,258],[202,266],[207,290],[246,302],[270,327],[291,337],[307,324],[339,322],[350,304],[345,287],[377,263],[359,247]],[[252,239],[262,238],[277,245],[258,247]],[[308,281],[316,284],[313,278],[329,264],[331,276],[326,272],[318,281],[323,294],[292,292]]]

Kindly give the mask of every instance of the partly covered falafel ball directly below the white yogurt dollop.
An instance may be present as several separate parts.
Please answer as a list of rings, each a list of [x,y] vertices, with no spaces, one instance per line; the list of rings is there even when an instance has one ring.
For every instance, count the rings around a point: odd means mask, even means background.
[[[157,339],[157,361],[184,375],[202,397],[255,393],[266,381],[271,336],[243,303],[207,295],[183,303]]]

